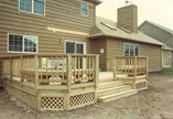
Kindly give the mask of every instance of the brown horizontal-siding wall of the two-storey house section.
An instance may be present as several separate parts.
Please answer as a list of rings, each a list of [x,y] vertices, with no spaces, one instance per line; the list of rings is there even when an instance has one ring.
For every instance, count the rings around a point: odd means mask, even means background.
[[[65,53],[61,40],[86,42],[86,53],[93,53],[93,42],[86,35],[53,32],[47,26],[89,33],[95,24],[95,6],[88,4],[88,17],[82,15],[80,0],[45,0],[45,17],[19,11],[19,0],[0,0],[0,56],[8,53],[8,33],[39,36],[39,53]]]

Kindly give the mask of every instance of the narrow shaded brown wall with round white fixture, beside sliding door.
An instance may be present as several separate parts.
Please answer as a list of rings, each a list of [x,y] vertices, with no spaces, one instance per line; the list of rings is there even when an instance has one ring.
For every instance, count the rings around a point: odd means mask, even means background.
[[[104,48],[104,53],[100,54],[100,48]],[[99,56],[99,67],[106,71],[106,58],[107,58],[107,40],[97,39],[94,40],[94,54],[100,54]]]

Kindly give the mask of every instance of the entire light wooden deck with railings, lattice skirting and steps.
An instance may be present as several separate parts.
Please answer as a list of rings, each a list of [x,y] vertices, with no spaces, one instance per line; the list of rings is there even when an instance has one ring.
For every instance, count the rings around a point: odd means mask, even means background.
[[[107,102],[147,88],[147,58],[138,60],[117,58],[112,61],[112,72],[99,73],[98,55],[3,57],[3,75],[10,76],[4,79],[4,89],[40,111],[72,110],[96,101]]]

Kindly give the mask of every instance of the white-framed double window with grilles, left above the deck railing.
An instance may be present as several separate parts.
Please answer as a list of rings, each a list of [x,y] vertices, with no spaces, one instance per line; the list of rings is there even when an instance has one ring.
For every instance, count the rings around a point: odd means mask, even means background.
[[[9,52],[37,52],[37,36],[9,34]]]

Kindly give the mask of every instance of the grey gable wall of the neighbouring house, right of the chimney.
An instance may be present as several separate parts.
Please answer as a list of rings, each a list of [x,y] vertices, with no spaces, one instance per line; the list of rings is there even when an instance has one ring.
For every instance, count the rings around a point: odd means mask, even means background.
[[[170,47],[173,47],[173,36],[172,34],[148,23],[148,22],[144,22],[144,24],[142,24],[140,28],[139,28],[139,31],[148,34],[149,36],[151,37],[154,37],[155,40],[166,44],[167,46]]]

